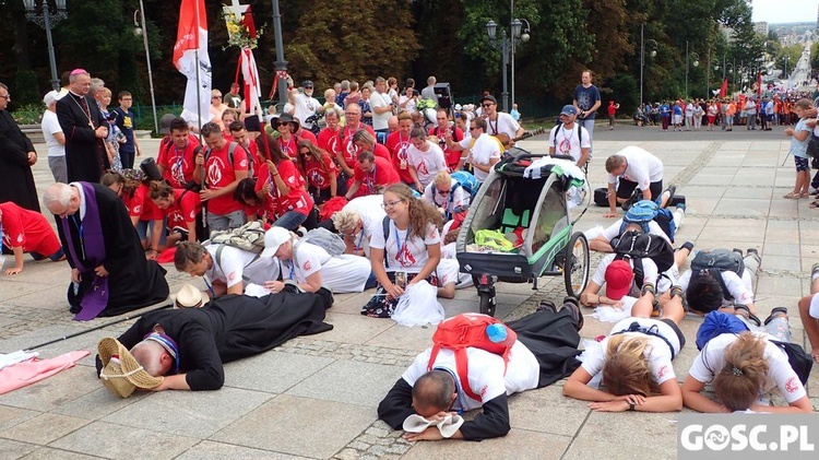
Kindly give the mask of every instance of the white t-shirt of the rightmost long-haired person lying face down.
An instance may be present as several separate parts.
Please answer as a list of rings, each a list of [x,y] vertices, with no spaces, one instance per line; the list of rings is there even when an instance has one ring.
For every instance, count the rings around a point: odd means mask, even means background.
[[[788,403],[805,397],[805,387],[787,362],[787,354],[770,342],[773,337],[764,332],[750,333],[765,339],[762,356],[768,362],[768,379],[760,388],[760,394],[769,392],[775,386]],[[693,359],[688,375],[702,384],[711,381],[725,367],[725,349],[734,343],[736,338],[733,333],[724,333],[711,339]]]

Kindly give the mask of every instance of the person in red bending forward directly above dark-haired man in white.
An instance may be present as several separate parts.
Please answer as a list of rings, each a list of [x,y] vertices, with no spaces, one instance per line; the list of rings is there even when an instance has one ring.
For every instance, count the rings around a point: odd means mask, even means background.
[[[202,219],[202,199],[192,190],[173,189],[165,181],[151,182],[151,200],[167,220],[166,246],[197,240],[197,222]]]

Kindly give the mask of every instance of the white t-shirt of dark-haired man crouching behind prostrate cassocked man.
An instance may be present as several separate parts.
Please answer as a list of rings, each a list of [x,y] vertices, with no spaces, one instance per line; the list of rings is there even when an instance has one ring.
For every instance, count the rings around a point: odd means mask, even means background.
[[[207,245],[205,250],[213,259],[213,266],[205,272],[211,281],[219,280],[227,287],[237,283],[261,284],[278,278],[278,260],[275,257],[259,257],[258,253],[224,246],[218,258],[216,250],[221,245]]]

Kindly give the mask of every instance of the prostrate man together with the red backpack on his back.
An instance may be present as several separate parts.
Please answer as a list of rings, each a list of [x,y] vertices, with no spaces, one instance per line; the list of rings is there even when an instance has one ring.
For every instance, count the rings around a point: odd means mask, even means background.
[[[378,416],[413,441],[506,436],[509,394],[551,385],[580,365],[580,318],[571,299],[559,310],[544,300],[507,325],[478,314],[450,318],[379,403]],[[482,413],[474,420],[456,415],[475,409]]]

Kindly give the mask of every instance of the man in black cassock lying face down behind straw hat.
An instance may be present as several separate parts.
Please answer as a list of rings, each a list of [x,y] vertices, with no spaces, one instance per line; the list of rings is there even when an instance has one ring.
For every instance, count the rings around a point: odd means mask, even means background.
[[[192,287],[192,286],[191,286]],[[192,308],[199,303],[180,302],[174,310],[143,315],[119,337],[133,356],[153,377],[165,376],[159,390],[218,390],[225,382],[223,364],[257,355],[298,335],[333,329],[324,322],[333,295],[325,287],[316,293],[283,291],[261,298],[224,295]],[[103,362],[97,356],[97,375]],[[138,385],[139,388],[141,387]]]

